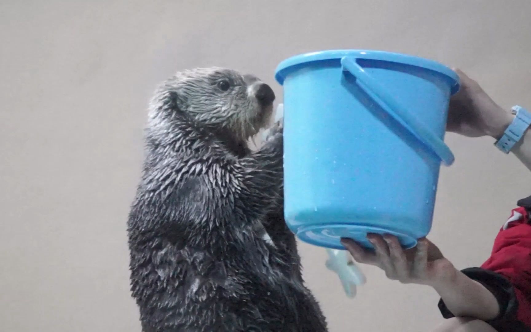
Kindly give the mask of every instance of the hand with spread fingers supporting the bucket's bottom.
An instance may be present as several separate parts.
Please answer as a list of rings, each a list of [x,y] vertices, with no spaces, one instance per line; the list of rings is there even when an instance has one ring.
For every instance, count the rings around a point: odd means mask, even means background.
[[[341,243],[354,260],[378,266],[389,279],[436,287],[448,284],[458,273],[439,248],[427,239],[419,239],[417,246],[408,250],[402,249],[396,236],[369,234],[367,239],[373,244],[374,252],[350,239],[342,239]]]

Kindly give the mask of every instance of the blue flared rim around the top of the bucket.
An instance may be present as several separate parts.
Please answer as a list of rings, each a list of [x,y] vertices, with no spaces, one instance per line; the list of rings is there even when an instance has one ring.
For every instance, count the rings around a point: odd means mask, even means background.
[[[296,65],[322,60],[340,60],[344,56],[359,56],[359,58],[363,59],[396,62],[423,67],[448,76],[448,78],[453,81],[453,84],[450,87],[452,95],[459,91],[459,76],[457,73],[439,62],[414,55],[369,49],[332,49],[298,54],[280,62],[275,70],[275,79],[280,85],[283,85],[286,76]]]

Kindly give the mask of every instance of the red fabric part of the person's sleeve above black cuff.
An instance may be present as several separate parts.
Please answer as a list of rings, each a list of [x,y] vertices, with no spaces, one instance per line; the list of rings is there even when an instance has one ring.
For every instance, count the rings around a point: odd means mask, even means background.
[[[491,257],[481,268],[505,277],[518,300],[517,318],[531,327],[531,223],[528,210],[520,207],[494,240]]]

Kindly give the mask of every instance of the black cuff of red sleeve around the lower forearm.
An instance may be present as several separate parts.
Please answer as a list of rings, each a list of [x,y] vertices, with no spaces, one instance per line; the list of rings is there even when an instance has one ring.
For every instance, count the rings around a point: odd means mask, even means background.
[[[500,332],[529,332],[529,329],[517,320],[518,300],[509,280],[498,273],[477,267],[467,268],[461,272],[485,286],[498,300],[500,313],[494,319],[487,321],[489,325]],[[439,301],[439,310],[444,318],[454,317],[442,299]]]

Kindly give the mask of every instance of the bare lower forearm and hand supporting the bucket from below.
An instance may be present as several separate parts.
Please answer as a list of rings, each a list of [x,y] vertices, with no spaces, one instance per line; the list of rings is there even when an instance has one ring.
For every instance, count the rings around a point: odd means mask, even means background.
[[[367,239],[374,245],[374,252],[350,239],[341,243],[354,260],[380,267],[390,279],[433,287],[454,316],[481,320],[498,316],[500,307],[496,297],[457,270],[429,240],[421,239],[415,248],[403,250],[395,236],[371,234]]]

